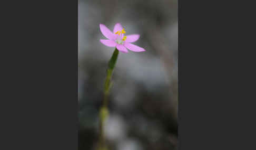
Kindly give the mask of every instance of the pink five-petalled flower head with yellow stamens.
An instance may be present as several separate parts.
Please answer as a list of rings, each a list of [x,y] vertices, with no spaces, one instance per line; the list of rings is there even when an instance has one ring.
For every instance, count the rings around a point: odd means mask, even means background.
[[[131,42],[138,40],[140,35],[133,34],[124,36],[126,32],[120,23],[115,24],[113,33],[103,24],[100,24],[100,29],[101,33],[107,38],[100,40],[105,46],[116,47],[119,51],[124,53],[128,52],[127,49],[136,52],[145,51],[144,48],[131,44]]]

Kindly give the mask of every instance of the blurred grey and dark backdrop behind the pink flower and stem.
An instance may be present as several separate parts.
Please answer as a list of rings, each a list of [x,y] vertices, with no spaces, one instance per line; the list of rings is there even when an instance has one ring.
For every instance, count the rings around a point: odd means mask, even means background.
[[[140,34],[119,53],[105,134],[110,150],[177,149],[178,0],[78,1],[78,149],[96,148],[107,63],[99,24]]]

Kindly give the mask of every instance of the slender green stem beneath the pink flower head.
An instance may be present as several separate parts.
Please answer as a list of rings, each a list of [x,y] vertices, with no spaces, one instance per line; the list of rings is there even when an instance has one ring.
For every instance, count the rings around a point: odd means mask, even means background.
[[[99,150],[106,150],[106,142],[105,142],[105,135],[104,135],[104,124],[105,120],[109,116],[109,110],[107,108],[107,105],[109,103],[109,93],[110,93],[110,88],[111,88],[111,77],[113,70],[115,68],[115,63],[117,61],[119,51],[115,48],[115,51],[113,52],[112,57],[110,58],[109,61],[109,66],[107,68],[107,77],[105,80],[104,84],[104,99],[103,103],[100,109],[100,146]]]

